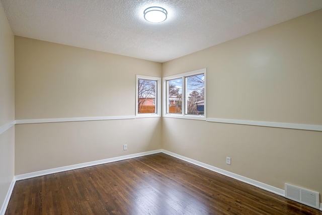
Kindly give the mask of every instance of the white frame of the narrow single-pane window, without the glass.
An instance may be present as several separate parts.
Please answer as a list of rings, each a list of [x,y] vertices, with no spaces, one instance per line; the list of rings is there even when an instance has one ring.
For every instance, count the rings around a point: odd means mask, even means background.
[[[138,113],[138,80],[145,79],[150,81],[156,81],[156,94],[155,94],[155,110],[156,113]],[[162,105],[161,105],[161,78],[151,77],[151,76],[141,76],[136,75],[136,85],[135,85],[135,116],[136,118],[143,118],[143,117],[161,117],[162,112]]]

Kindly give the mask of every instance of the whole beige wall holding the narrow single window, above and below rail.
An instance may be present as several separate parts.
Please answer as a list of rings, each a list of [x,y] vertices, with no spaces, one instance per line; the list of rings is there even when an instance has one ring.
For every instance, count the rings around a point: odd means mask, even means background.
[[[135,115],[136,74],[162,64],[15,37],[16,119]],[[16,125],[15,174],[161,148],[160,118]],[[128,150],[123,151],[123,145]]]

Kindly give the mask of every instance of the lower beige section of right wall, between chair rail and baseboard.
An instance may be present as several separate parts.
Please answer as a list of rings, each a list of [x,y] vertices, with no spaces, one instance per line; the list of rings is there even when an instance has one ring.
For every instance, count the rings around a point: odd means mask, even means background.
[[[280,189],[322,192],[321,139],[319,131],[163,118],[163,149]]]

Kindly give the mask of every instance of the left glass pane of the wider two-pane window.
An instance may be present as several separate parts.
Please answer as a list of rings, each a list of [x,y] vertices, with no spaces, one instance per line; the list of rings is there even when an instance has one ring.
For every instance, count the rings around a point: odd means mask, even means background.
[[[182,113],[182,79],[167,81],[167,113]]]

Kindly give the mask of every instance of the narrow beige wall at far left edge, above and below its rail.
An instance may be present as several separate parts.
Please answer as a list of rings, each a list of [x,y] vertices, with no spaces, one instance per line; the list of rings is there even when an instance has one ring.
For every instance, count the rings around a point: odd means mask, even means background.
[[[15,120],[14,35],[0,4],[0,127]],[[14,178],[15,128],[0,134],[0,211]]]

